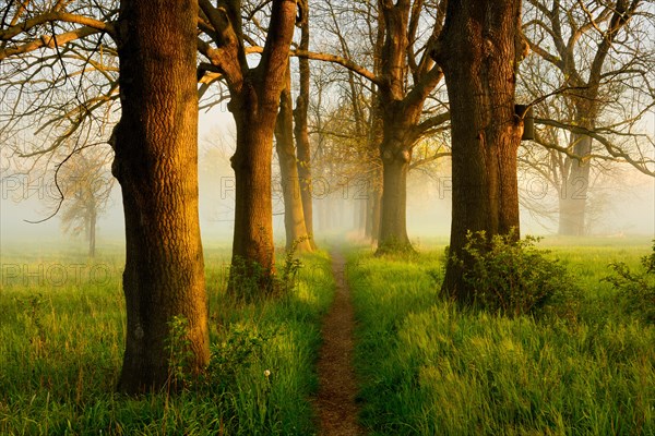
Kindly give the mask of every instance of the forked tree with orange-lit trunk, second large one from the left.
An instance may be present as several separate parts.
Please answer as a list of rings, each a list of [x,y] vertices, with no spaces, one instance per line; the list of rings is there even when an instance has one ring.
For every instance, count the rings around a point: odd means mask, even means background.
[[[236,178],[235,233],[230,289],[241,292],[239,278],[259,276],[259,288],[270,289],[274,274],[271,157],[273,134],[285,86],[288,55],[296,21],[295,0],[273,0],[259,64],[246,59],[240,1],[219,8],[200,0],[200,27],[215,44],[199,38],[198,47],[210,63],[201,72],[218,72],[227,83],[228,105],[237,126],[231,158]],[[259,8],[258,8],[259,9]],[[254,13],[254,12],[253,12]]]

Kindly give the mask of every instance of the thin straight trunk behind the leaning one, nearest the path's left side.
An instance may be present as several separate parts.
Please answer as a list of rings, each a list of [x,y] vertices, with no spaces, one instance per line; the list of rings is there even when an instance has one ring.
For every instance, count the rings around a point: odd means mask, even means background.
[[[300,44],[298,49],[309,50],[309,8],[308,2],[301,2],[303,8],[303,20],[300,24]],[[296,135],[296,153],[298,177],[300,181],[300,197],[302,199],[302,215],[305,216],[305,228],[310,238],[312,250],[317,249],[313,238],[313,205],[311,193],[311,146],[309,143],[308,131],[308,109],[309,109],[309,59],[298,58],[298,70],[300,73],[300,89],[296,99],[296,109],[294,110],[294,133]]]

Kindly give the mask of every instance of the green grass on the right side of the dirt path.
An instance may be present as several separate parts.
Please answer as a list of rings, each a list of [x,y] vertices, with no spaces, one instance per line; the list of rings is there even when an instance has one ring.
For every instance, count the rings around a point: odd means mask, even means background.
[[[462,311],[439,299],[443,247],[349,257],[362,424],[373,435],[653,435],[655,327],[620,306],[607,264],[650,241],[548,244],[584,288],[577,323]]]

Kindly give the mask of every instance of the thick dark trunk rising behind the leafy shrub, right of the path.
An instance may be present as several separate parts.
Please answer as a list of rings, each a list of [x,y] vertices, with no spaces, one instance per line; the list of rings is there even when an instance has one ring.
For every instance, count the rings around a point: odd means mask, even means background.
[[[522,124],[514,116],[515,44],[520,0],[449,1],[436,60],[445,74],[451,107],[453,213],[443,288],[471,303],[475,290],[462,278],[467,232],[519,235],[516,150]],[[480,250],[485,247],[481,246]]]

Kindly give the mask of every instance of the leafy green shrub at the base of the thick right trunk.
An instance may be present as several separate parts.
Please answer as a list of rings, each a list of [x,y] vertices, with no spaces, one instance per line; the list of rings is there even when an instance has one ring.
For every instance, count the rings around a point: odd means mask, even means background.
[[[539,239],[516,241],[513,232],[495,235],[469,233],[462,259],[464,281],[475,290],[476,304],[507,316],[550,313],[574,318],[581,291],[573,278],[547,251],[534,245]]]

